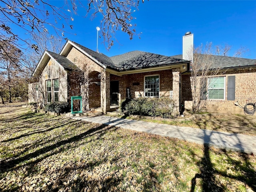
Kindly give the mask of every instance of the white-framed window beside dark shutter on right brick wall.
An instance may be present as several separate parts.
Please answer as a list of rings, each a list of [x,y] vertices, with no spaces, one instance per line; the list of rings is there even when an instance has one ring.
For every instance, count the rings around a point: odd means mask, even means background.
[[[208,99],[225,99],[225,77],[208,78]]]

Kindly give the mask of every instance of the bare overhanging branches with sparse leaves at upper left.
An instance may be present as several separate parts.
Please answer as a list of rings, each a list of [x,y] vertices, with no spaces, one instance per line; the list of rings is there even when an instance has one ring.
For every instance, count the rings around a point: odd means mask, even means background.
[[[107,49],[114,44],[116,30],[127,33],[130,39],[136,34],[132,13],[138,9],[139,0],[64,0],[58,7],[44,0],[0,0],[0,3],[0,39],[8,35],[36,51],[39,51],[38,45],[19,36],[11,26],[18,26],[29,35],[42,34],[52,28],[58,36],[64,37],[67,26],[73,28],[72,15],[77,14],[78,8],[84,8],[85,17],[90,14],[91,19],[98,15],[102,18],[101,32]]]

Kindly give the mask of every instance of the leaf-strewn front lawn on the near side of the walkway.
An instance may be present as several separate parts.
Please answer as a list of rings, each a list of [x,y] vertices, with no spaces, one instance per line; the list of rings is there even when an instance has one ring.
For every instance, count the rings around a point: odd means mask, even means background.
[[[255,191],[254,155],[0,107],[0,191]]]

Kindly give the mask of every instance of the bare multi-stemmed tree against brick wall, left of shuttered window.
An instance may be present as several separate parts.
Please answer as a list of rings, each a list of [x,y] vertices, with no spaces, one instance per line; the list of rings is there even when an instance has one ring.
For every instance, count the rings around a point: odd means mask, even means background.
[[[224,47],[216,46],[216,50],[212,48],[212,43],[208,43],[205,46],[201,45],[198,48],[193,49],[193,54],[190,54],[191,64],[191,89],[192,89],[192,112],[199,112],[205,106],[208,99],[207,85],[211,84],[211,78],[209,76],[216,76],[224,74],[226,70],[221,69],[216,64],[214,53],[222,56],[228,56],[231,46],[225,44]],[[235,51],[235,56],[242,56],[249,50],[246,47],[242,47]]]

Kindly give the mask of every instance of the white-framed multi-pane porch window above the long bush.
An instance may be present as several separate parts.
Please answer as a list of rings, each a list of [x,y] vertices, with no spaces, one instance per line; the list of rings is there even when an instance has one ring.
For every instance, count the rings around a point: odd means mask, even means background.
[[[159,97],[159,75],[145,76],[145,96]]]

